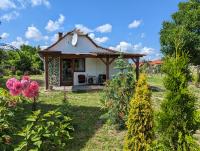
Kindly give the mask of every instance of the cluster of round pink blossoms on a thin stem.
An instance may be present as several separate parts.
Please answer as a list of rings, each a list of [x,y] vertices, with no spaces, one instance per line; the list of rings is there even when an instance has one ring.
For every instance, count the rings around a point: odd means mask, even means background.
[[[11,78],[7,80],[6,87],[12,96],[23,95],[33,99],[32,110],[36,110],[36,98],[39,95],[39,84],[36,81],[31,81],[29,76],[23,76],[21,81]]]

